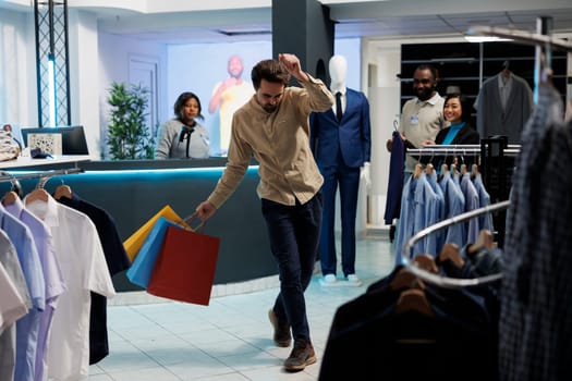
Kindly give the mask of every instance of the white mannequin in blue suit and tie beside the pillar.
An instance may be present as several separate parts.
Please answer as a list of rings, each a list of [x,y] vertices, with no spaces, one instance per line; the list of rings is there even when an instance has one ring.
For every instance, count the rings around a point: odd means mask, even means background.
[[[340,103],[332,109],[311,114],[311,145],[314,158],[324,176],[324,212],[319,242],[322,285],[339,284],[336,278],[334,237],[336,192],[340,188],[341,265],[350,285],[360,285],[355,274],[355,219],[360,180],[370,185],[370,123],[369,103],[361,91],[348,88],[348,63],[344,57],[333,56],[329,62],[330,91],[341,94]],[[338,105],[342,115],[337,118]]]

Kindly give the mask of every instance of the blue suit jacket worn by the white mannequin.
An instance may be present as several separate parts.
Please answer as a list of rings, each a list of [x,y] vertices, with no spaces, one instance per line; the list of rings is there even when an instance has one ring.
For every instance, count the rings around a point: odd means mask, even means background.
[[[338,122],[331,109],[311,114],[309,143],[320,168],[338,165],[338,152],[350,168],[370,161],[372,126],[369,103],[361,91],[346,89],[345,111]]]

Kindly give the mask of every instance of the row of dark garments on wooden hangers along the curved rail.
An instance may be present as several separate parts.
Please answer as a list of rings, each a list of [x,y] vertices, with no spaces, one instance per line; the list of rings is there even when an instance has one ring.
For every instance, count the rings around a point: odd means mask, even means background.
[[[498,271],[487,265],[494,258],[490,247],[461,254],[446,245],[436,259],[412,261],[434,274],[472,278]],[[497,380],[498,287],[440,287],[395,267],[338,308],[318,380]]]

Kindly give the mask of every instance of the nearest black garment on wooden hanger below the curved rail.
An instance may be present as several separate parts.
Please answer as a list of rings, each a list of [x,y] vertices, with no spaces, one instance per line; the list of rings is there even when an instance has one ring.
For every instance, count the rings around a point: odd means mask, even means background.
[[[433,317],[398,314],[401,290],[390,282],[400,269],[338,308],[318,380],[496,380],[496,330],[484,299],[427,285]]]

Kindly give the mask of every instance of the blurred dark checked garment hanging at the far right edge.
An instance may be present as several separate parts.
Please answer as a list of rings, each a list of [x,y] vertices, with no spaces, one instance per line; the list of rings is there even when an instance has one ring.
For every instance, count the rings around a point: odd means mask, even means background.
[[[508,211],[499,322],[506,381],[572,380],[572,123],[539,87]]]

